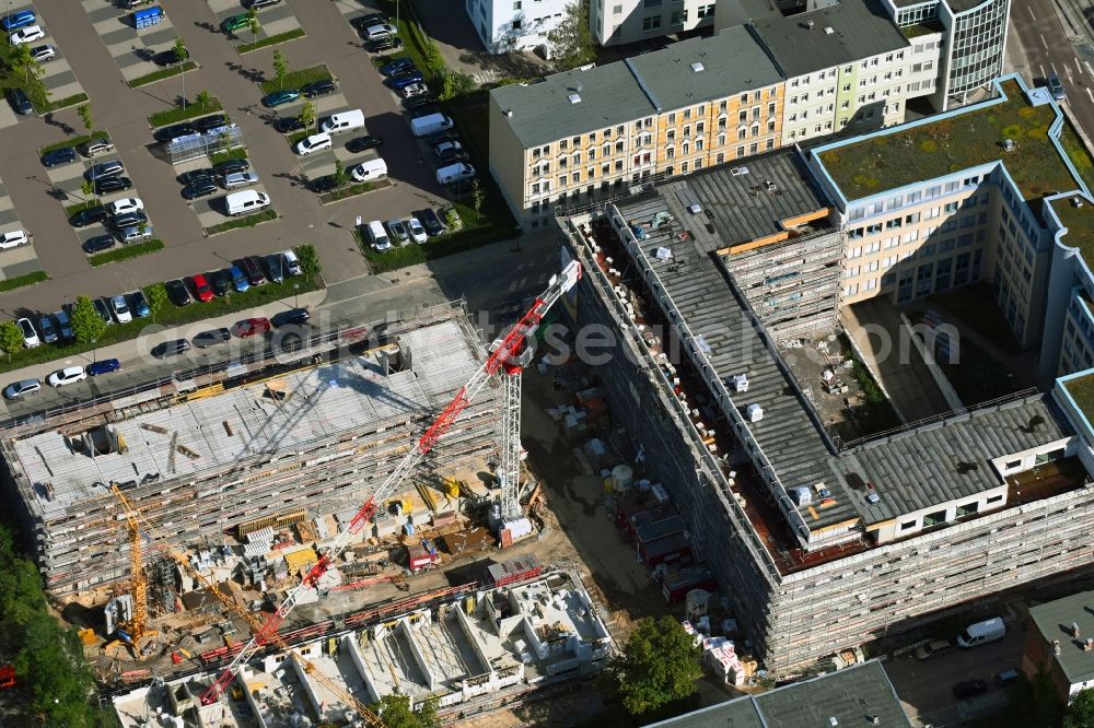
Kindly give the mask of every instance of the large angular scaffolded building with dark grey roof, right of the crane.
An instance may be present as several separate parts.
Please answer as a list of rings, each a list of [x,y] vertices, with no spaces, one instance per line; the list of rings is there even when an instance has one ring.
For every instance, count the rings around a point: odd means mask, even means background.
[[[775,674],[1094,555],[1092,433],[1061,384],[829,436],[780,350],[835,325],[828,207],[782,151],[560,221],[585,268],[571,314],[615,334],[598,378],[636,477],[668,489]]]

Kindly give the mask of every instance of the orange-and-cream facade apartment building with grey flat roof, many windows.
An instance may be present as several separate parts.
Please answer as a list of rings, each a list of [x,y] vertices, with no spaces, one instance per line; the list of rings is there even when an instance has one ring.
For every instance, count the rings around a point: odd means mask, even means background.
[[[782,77],[747,28],[490,92],[490,171],[525,227],[559,204],[619,195],[775,149]]]

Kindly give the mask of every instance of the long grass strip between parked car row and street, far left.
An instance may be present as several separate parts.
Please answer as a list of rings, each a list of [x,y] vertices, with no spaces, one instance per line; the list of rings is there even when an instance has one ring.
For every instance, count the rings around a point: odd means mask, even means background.
[[[300,284],[300,290],[293,290],[293,283]],[[213,316],[231,314],[236,310],[245,310],[265,304],[272,303],[280,298],[290,298],[301,293],[309,293],[323,287],[322,279],[307,281],[302,277],[286,279],[283,283],[266,283],[243,293],[232,292],[228,296],[217,297],[209,303],[191,303],[188,306],[174,306],[171,303],[164,305],[154,319],[139,318],[130,324],[114,324],[107,326],[103,336],[95,344],[71,343],[62,347],[44,345],[36,349],[22,349],[14,352],[10,357],[0,356],[0,372],[11,372],[32,364],[65,360],[77,356],[96,348],[108,347],[121,341],[136,339],[146,327],[155,324],[158,326],[179,326],[200,321]]]

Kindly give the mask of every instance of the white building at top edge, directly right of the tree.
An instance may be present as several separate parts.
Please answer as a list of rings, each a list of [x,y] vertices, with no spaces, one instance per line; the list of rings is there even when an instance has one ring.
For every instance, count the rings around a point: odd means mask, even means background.
[[[618,46],[711,26],[714,0],[591,0],[593,40]]]

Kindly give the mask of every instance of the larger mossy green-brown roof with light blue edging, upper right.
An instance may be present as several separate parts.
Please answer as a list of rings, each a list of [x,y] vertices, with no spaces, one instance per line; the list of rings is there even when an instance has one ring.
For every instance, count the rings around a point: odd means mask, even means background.
[[[1001,84],[1004,97],[990,106],[878,132],[818,153],[848,200],[1001,161],[1027,200],[1079,185],[1048,137],[1051,104],[1034,106],[1017,82]],[[1003,151],[1003,141],[1015,149]]]

